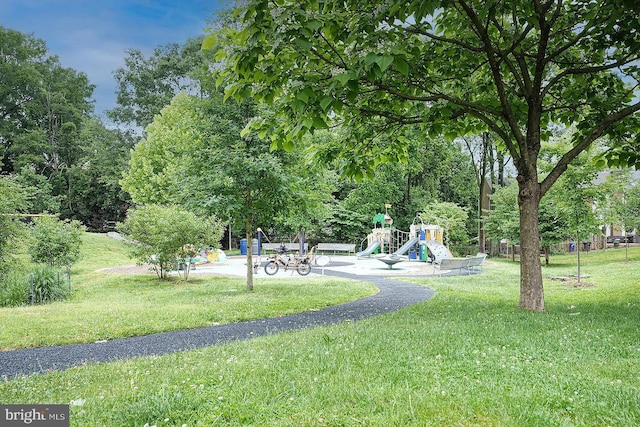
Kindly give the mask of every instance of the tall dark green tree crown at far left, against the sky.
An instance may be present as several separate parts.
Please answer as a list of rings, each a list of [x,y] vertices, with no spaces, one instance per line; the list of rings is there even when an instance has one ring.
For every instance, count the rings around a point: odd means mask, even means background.
[[[47,56],[42,40],[0,27],[0,142],[3,171],[34,165],[59,175],[78,159],[82,121],[93,112],[93,85],[86,74]]]

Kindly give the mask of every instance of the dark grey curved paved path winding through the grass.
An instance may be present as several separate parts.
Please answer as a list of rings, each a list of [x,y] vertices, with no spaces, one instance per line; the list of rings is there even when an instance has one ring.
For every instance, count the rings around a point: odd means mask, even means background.
[[[380,276],[355,276],[328,270],[325,274],[368,281],[376,285],[380,291],[370,297],[322,310],[276,318],[162,332],[105,342],[4,351],[0,352],[0,377],[11,378],[16,375],[63,370],[85,363],[162,355],[282,331],[358,320],[425,301],[435,293],[424,286]]]

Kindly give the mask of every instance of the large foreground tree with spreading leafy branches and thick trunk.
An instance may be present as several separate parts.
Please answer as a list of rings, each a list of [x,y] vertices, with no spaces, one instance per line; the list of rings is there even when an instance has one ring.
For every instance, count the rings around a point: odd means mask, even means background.
[[[277,120],[256,124],[274,145],[340,123],[348,134],[335,155],[362,176],[398,160],[406,141],[377,137],[406,124],[450,137],[493,131],[517,169],[520,307],[545,310],[541,198],[604,134],[611,143],[636,135],[637,2],[252,0],[242,20],[204,47],[226,45],[228,96],[278,104]],[[578,132],[539,179],[554,122]]]

